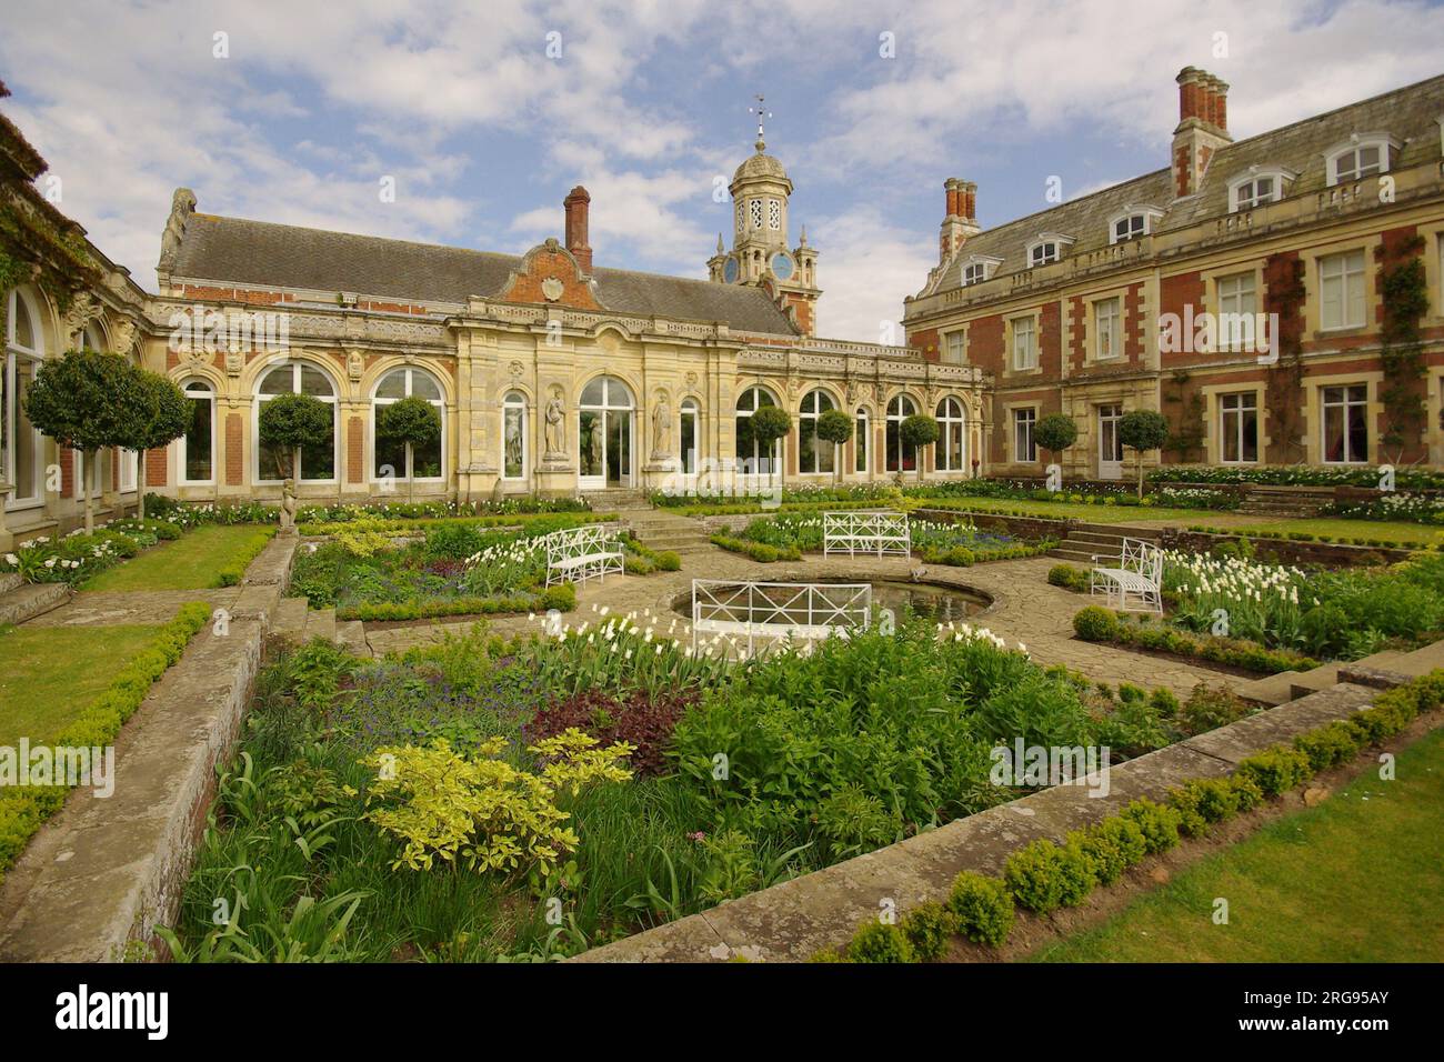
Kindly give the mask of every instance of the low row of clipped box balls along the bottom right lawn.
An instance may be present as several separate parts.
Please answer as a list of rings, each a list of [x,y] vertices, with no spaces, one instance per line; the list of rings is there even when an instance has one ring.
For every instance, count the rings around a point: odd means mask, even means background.
[[[1034,841],[1004,864],[1002,877],[963,871],[946,905],[950,935],[989,946],[1006,942],[1018,907],[1047,915],[1077,906],[1129,867],[1305,785],[1328,767],[1402,733],[1421,712],[1444,704],[1444,669],[1379,694],[1347,720],[1334,720],[1242,760],[1232,774],[1193,779],[1168,790],[1164,803],[1139,798],[1118,815],[1074,829],[1063,844]],[[817,962],[917,962],[941,958],[936,905],[918,905],[895,923],[868,920],[846,951],[819,952]],[[923,942],[923,946],[920,946]]]

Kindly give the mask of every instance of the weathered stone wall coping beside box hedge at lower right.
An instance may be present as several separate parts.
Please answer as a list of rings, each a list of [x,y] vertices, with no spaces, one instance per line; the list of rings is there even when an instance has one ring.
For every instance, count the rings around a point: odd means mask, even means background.
[[[918,903],[946,900],[960,871],[1001,874],[1008,857],[1035,839],[1061,841],[1139,796],[1162,800],[1188,779],[1227,774],[1271,744],[1347,718],[1376,694],[1340,683],[1121,763],[1109,772],[1106,796],[1089,796],[1089,779],[1054,786],[569,961],[715,962],[742,955],[801,962],[825,948],[843,948],[888,902],[905,913]]]

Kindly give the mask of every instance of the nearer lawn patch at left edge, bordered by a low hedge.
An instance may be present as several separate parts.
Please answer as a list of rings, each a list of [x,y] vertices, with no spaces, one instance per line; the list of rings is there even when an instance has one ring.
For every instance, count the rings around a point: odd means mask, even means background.
[[[0,746],[48,741],[81,714],[159,627],[0,629]]]

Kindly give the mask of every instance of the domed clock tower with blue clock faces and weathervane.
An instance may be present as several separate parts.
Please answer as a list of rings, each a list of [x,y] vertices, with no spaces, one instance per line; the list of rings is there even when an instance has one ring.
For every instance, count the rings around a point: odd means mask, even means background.
[[[718,250],[708,260],[708,275],[718,283],[742,283],[764,288],[783,311],[788,312],[806,335],[816,334],[817,251],[807,246],[807,230],[796,247],[787,246],[787,198],[793,182],[783,163],[767,155],[762,120],[770,113],[757,97],[757,152],[748,157],[728,191],[732,194],[732,250],[721,234]]]

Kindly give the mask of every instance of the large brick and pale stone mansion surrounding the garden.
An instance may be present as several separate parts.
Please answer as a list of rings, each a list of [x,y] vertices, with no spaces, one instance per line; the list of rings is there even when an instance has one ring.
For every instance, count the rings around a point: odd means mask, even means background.
[[[257,413],[293,390],[335,410],[329,445],[302,455],[299,491],[318,501],[397,484],[459,500],[705,488],[731,470],[748,484],[1037,474],[1032,426],[1060,410],[1080,429],[1067,474],[1113,478],[1118,419],[1139,407],[1170,418],[1164,461],[1440,462],[1444,77],[1238,143],[1227,87],[1193,68],[1178,82],[1165,169],[991,230],[979,189],[947,181],[939,264],[900,347],[814,335],[819,253],[793,241],[793,184],[761,129],[708,280],[593,266],[583,188],[562,238],[521,256],[218,217],[178,189],[149,293],[45,201],[43,160],[0,116],[0,195],[33,221],[16,247],[35,256],[3,293],[0,545],[69,526],[82,490],[113,510],[140,490],[279,497]],[[1427,416],[1399,425],[1383,277],[1411,257],[1425,374],[1399,386]],[[1210,315],[1262,316],[1196,331]],[[84,345],[169,373],[193,410],[183,439],[111,454],[90,484],[19,402],[45,358]],[[378,444],[377,409],[404,396],[440,410],[435,449]],[[765,405],[793,420],[771,446],[748,431]],[[816,438],[827,409],[855,419],[843,446]],[[941,429],[921,468],[898,439],[913,413]]]

